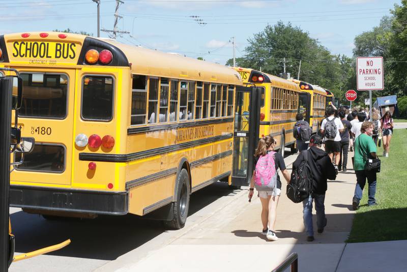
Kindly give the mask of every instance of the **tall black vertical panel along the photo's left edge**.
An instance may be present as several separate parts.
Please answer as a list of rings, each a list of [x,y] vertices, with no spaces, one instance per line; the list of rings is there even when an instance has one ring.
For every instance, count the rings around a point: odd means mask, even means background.
[[[0,271],[8,271],[11,90],[13,80],[0,78]]]

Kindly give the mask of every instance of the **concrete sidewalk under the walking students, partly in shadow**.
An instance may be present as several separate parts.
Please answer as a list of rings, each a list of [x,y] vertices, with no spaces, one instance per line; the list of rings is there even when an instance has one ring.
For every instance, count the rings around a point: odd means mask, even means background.
[[[349,154],[348,168],[352,168]],[[296,156],[290,156],[290,165]],[[287,167],[289,172],[290,166]],[[339,172],[328,183],[324,233],[306,241],[302,204],[285,196],[285,180],[277,208],[277,241],[260,234],[261,204],[257,197],[247,200],[247,188],[217,213],[195,224],[177,239],[136,263],[117,271],[270,271],[290,253],[299,255],[299,271],[405,271],[406,241],[345,244],[351,231],[354,211],[352,197],[356,184],[353,171]],[[315,214],[315,211],[313,211]],[[315,220],[315,216],[314,216]]]

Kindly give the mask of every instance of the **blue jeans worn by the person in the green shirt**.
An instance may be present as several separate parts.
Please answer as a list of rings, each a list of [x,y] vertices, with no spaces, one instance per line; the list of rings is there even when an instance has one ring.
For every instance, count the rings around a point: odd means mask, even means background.
[[[356,173],[356,188],[355,188],[355,196],[353,200],[358,202],[362,199],[363,188],[366,185],[366,178],[367,184],[369,185],[369,199],[367,200],[368,205],[372,205],[376,203],[376,199],[374,195],[376,194],[376,172],[374,171],[367,171],[367,170],[357,170]]]

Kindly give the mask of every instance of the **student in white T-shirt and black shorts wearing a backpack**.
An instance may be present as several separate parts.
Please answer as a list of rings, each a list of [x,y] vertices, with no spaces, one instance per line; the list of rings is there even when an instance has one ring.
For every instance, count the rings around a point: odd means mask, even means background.
[[[340,155],[340,133],[343,132],[343,124],[341,120],[335,117],[335,109],[328,107],[328,117],[325,118],[321,125],[321,133],[325,134],[325,150],[329,158],[335,157],[334,167],[336,174],[338,174],[338,164]]]

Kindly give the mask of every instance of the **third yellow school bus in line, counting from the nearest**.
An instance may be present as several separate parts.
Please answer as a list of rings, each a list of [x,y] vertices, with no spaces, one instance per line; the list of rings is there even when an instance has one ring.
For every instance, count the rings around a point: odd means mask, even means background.
[[[301,89],[299,112],[303,113],[304,119],[309,123],[312,133],[318,133],[321,121],[325,116],[325,103],[327,93],[318,85],[312,85],[297,79],[291,79]]]

